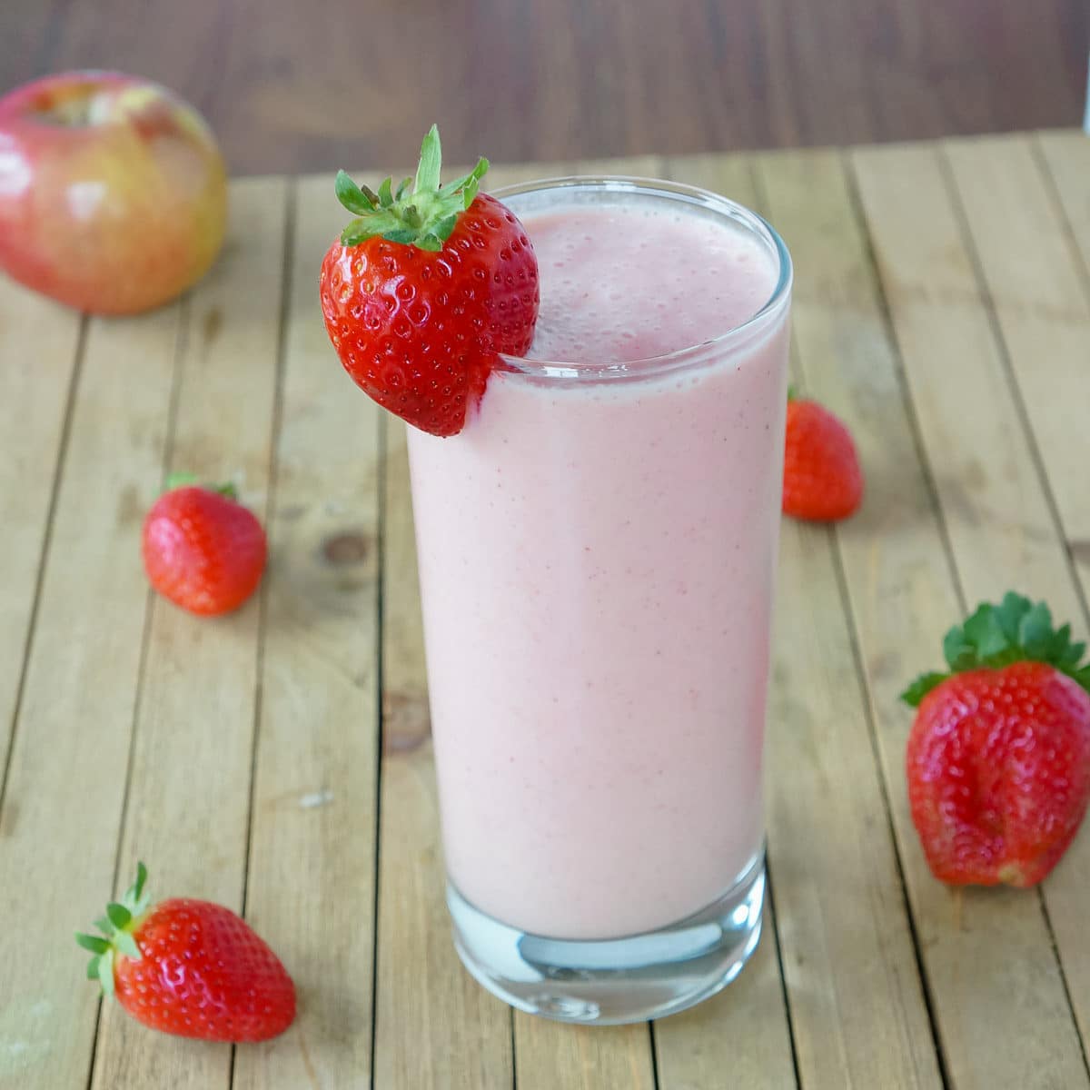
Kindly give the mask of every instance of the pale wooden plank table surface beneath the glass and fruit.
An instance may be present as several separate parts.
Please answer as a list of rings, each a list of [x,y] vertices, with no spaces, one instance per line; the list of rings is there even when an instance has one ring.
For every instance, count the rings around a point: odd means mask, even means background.
[[[652,1026],[512,1012],[443,904],[404,434],[353,391],[316,270],[328,177],[232,186],[187,298],[85,319],[0,282],[2,1090],[1090,1088],[1090,832],[1038,889],[928,872],[896,694],[1009,586],[1090,598],[1090,141],[497,168],[655,174],[777,225],[796,382],[852,426],[859,514],[787,522],[768,738],[766,937]],[[378,173],[378,171],[368,171]],[[198,620],[149,593],[167,472],[267,521],[261,594]],[[101,1005],[71,932],[135,860],[232,906],[300,1015],[232,1049]]]

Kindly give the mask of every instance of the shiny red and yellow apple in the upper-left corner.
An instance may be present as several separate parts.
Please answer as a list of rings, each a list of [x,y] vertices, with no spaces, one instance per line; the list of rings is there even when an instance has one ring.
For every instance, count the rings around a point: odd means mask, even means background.
[[[0,98],[0,268],[27,287],[149,310],[207,271],[226,218],[216,140],[165,87],[64,72]]]

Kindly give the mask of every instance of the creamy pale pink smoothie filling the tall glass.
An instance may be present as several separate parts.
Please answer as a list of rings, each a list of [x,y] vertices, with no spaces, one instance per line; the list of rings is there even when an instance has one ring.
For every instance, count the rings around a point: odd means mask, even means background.
[[[746,324],[778,277],[749,229],[556,201],[510,204],[541,270],[530,356],[570,377],[495,372],[460,435],[409,450],[451,881],[516,928],[614,937],[761,850],[786,304]]]

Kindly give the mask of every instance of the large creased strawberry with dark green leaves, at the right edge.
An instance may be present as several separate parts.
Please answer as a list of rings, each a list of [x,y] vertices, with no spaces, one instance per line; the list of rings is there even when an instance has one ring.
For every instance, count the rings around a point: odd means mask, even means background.
[[[1071,843],[1090,798],[1090,664],[1043,602],[1007,594],[946,633],[944,674],[901,694],[918,708],[906,766],[912,823],[935,877],[1029,886]]]

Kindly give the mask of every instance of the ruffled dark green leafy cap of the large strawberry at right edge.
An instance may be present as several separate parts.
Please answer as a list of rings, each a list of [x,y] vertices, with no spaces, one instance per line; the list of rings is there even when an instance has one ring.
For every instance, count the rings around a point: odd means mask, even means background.
[[[1012,663],[1047,663],[1074,678],[1090,692],[1090,663],[1082,663],[1085,643],[1071,642],[1071,626],[1052,627],[1043,602],[1032,603],[1007,592],[998,605],[982,602],[964,625],[955,625],[943,640],[949,670],[922,674],[901,694],[910,707],[955,674],[982,668],[998,669]]]

